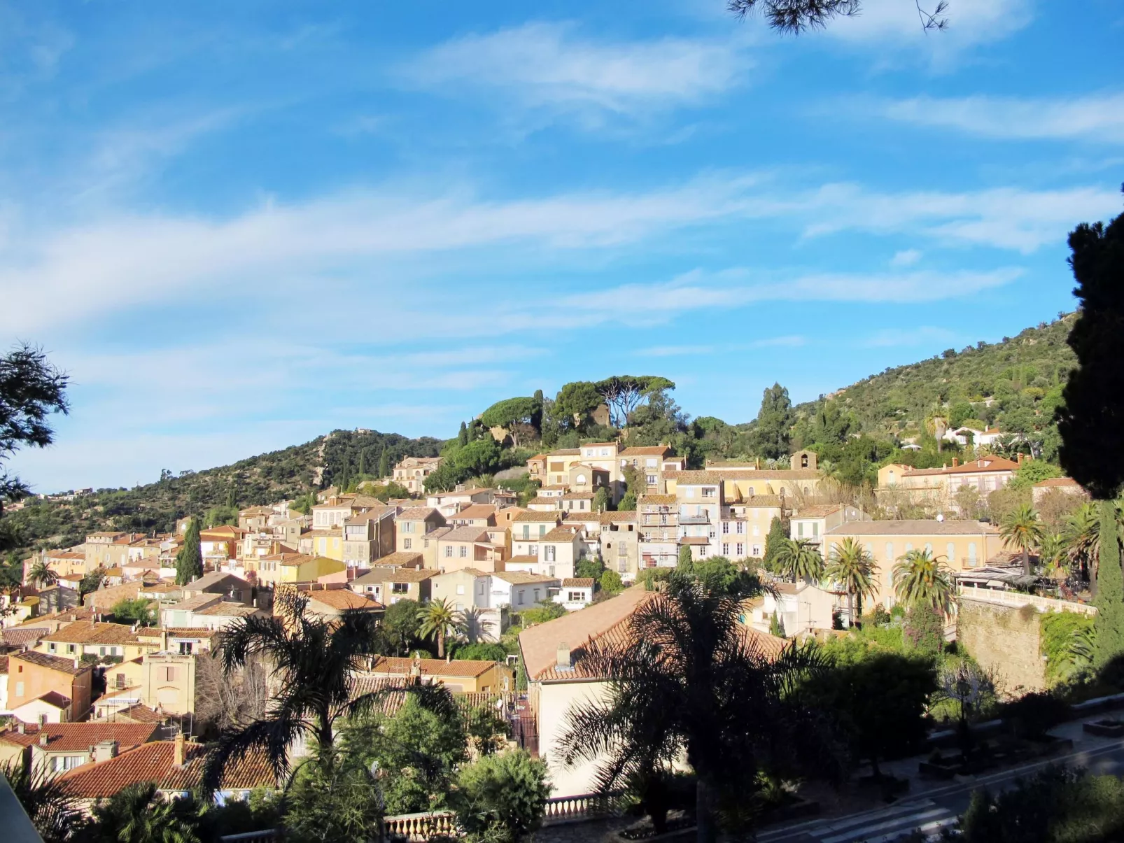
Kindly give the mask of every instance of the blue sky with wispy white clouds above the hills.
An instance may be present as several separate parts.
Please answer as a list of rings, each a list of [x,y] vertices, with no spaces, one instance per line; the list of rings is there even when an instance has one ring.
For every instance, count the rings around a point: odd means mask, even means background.
[[[1124,8],[0,0],[0,342],[73,379],[39,490],[575,379],[753,418],[1072,308],[1122,207]]]

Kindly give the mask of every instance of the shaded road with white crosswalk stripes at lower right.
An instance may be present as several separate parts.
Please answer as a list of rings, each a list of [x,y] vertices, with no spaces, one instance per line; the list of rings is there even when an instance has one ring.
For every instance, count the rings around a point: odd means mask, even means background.
[[[812,819],[758,835],[759,843],[889,843],[915,831],[936,837],[955,824],[968,807],[973,790],[1004,790],[1019,777],[1048,764],[1069,763],[1094,773],[1124,774],[1124,741],[1073,752],[1033,764],[980,776],[970,782],[945,785],[917,794],[885,808],[847,816]]]

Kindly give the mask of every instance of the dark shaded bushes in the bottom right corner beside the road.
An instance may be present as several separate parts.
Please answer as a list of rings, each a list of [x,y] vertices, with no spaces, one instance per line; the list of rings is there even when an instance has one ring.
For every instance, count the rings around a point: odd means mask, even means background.
[[[1048,767],[1013,789],[972,794],[963,843],[1107,843],[1124,833],[1124,782]]]

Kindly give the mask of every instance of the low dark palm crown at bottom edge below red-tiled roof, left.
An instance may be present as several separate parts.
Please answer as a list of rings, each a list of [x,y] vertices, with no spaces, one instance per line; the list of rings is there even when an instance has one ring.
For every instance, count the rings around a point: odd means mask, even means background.
[[[98,843],[200,843],[198,806],[163,798],[153,781],[118,790],[92,819],[89,839]]]

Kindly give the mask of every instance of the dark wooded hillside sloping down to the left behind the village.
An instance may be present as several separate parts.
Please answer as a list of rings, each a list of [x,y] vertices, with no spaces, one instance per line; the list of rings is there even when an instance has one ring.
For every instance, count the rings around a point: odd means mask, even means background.
[[[386,451],[392,466],[404,456],[434,456],[437,439],[378,432],[335,430],[281,451],[199,472],[166,473],[133,489],[99,489],[72,501],[29,500],[4,515],[8,546],[70,546],[99,529],[167,533],[176,518],[214,507],[246,507],[297,498],[361,473],[377,474]],[[319,482],[317,482],[319,481]],[[2,538],[2,537],[0,537]]]

